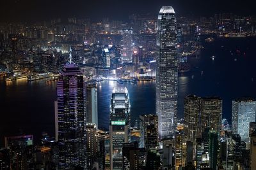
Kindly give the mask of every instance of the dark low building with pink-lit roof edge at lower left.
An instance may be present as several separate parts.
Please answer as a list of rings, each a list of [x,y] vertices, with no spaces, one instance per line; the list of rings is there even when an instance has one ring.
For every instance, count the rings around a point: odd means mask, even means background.
[[[5,137],[4,143],[10,150],[10,169],[35,169],[33,135]]]

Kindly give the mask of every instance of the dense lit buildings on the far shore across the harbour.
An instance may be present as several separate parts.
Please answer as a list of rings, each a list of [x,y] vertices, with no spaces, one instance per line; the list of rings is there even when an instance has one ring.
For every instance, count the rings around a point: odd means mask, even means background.
[[[177,17],[179,71],[186,72],[190,55],[198,55],[195,38],[209,34],[221,37],[255,36],[255,17],[220,13],[212,17]],[[58,73],[73,61],[95,76],[155,76],[159,20],[150,15],[131,15],[129,22],[103,18],[54,19],[36,24],[0,25],[0,72],[8,76]],[[86,76],[88,74],[84,74]]]

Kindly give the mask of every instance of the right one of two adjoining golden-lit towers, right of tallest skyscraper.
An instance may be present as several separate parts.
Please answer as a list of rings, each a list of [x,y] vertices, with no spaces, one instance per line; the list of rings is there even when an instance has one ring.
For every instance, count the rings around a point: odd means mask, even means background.
[[[201,99],[201,131],[209,127],[212,131],[221,130],[222,100],[220,97],[202,97]]]

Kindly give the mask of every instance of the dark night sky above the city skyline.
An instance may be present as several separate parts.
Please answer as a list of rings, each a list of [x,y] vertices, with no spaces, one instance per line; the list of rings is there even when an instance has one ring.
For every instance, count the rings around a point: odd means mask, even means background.
[[[132,13],[157,15],[163,5],[171,5],[178,15],[205,15],[232,12],[255,15],[253,0],[1,0],[0,21],[51,20],[52,18],[92,18],[127,20]]]

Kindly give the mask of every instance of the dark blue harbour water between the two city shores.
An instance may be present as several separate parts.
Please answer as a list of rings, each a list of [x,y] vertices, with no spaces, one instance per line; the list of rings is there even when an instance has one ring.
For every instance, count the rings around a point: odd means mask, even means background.
[[[204,43],[200,57],[189,58],[191,71],[179,76],[178,117],[183,117],[183,100],[188,94],[220,96],[223,118],[231,124],[232,99],[256,97],[256,39],[215,39]],[[214,60],[212,60],[214,55]],[[98,87],[99,127],[108,129],[109,104],[115,81]],[[141,114],[155,113],[155,81],[124,83],[131,100],[132,122]],[[41,132],[54,135],[56,82],[0,81],[0,146],[4,136],[20,132],[40,138]]]

